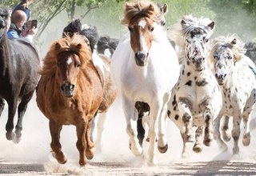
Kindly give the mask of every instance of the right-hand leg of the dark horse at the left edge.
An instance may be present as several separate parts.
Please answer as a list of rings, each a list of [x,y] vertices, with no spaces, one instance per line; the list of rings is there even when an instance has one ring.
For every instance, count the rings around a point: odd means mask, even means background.
[[[24,114],[26,112],[27,104],[30,102],[30,99],[32,98],[34,94],[34,90],[31,91],[29,94],[26,94],[22,97],[21,102],[18,104],[18,122],[15,126],[15,138],[14,143],[18,143],[21,140],[22,137],[22,120],[24,117]]]

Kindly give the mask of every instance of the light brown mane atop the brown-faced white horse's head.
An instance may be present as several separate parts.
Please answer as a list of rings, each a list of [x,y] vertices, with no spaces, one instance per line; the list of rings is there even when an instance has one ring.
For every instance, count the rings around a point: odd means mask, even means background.
[[[154,22],[158,22],[161,12],[158,10],[158,6],[153,2],[137,1],[126,2],[124,14],[124,18],[122,18],[121,22],[127,25],[135,17],[147,17]]]

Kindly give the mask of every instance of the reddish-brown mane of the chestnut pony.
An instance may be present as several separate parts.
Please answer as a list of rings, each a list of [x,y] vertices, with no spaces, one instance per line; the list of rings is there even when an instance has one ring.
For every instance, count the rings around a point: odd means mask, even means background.
[[[82,69],[86,68],[86,64],[91,62],[92,59],[90,44],[86,37],[79,34],[74,34],[72,37],[66,36],[66,38],[58,39],[58,41],[51,44],[50,50],[46,54],[46,58],[44,58],[40,74],[53,75],[57,68],[58,54],[62,52],[77,54],[80,58]]]

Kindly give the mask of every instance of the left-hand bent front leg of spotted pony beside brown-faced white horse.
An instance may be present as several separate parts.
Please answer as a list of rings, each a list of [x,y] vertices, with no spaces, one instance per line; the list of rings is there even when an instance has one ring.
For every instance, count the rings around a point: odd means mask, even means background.
[[[185,142],[194,142],[194,135],[193,135],[193,127],[192,127],[192,114],[190,111],[189,106],[185,103],[189,100],[186,100],[184,102],[178,102],[178,110],[182,114],[182,121],[185,126]]]

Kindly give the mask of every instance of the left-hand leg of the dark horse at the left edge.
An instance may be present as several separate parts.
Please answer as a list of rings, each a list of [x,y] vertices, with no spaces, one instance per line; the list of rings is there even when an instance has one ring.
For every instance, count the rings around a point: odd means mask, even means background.
[[[6,138],[8,140],[14,139],[14,115],[17,109],[18,98],[13,97],[8,101],[8,120],[6,122]]]

